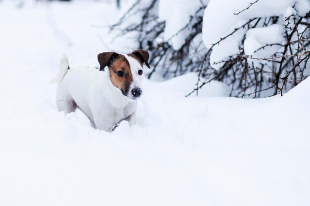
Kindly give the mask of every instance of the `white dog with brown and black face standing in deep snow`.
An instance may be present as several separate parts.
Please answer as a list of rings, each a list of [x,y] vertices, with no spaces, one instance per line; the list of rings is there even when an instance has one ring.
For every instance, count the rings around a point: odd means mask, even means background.
[[[58,111],[74,112],[79,107],[94,128],[113,131],[123,120],[135,124],[137,99],[143,93],[143,64],[150,65],[149,53],[135,50],[130,54],[98,54],[100,69],[85,66],[70,68],[67,56],[60,61],[56,104]],[[107,66],[107,71],[104,68]]]

